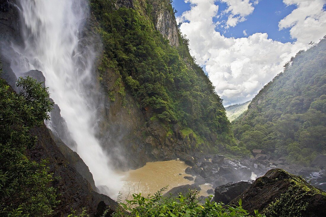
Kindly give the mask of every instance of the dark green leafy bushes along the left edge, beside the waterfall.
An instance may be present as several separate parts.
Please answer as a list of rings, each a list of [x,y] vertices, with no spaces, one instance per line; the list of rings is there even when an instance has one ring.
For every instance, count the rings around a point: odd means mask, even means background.
[[[29,130],[49,119],[52,103],[47,88],[30,77],[19,78],[17,87],[20,94],[0,79],[0,216],[52,215],[59,201],[49,167],[26,156],[37,139]]]

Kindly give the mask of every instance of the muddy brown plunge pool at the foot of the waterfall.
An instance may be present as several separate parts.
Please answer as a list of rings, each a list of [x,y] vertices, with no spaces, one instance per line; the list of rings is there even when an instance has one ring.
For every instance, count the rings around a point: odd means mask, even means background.
[[[122,172],[121,175],[124,176],[122,196],[125,198],[129,193],[140,192],[145,196],[153,195],[167,185],[166,191],[176,186],[193,184],[194,181],[184,179],[185,176],[191,176],[185,173],[187,167],[183,161],[170,160],[149,162],[141,168]],[[200,187],[202,188],[200,195],[208,196],[206,190],[212,188],[212,185],[203,184]]]

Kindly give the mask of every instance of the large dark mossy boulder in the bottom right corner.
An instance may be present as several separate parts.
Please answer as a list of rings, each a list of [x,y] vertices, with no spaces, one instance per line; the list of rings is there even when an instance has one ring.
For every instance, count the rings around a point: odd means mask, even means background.
[[[272,169],[233,199],[250,213],[254,209],[268,216],[322,217],[326,213],[326,193],[282,169]]]

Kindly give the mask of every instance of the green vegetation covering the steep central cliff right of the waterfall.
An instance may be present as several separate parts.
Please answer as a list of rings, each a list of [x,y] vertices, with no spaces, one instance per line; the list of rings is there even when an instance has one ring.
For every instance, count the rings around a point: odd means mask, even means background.
[[[123,91],[132,94],[142,108],[154,111],[153,120],[166,125],[179,123],[213,146],[216,143],[235,146],[222,99],[190,56],[188,40],[179,33],[178,47],[171,47],[155,30],[151,16],[155,10],[153,1],[135,0],[136,9],[116,9],[111,0],[91,0],[99,23],[97,31],[104,44],[98,68],[100,77],[108,77],[112,71],[119,74],[122,78],[119,82],[126,86]],[[170,1],[156,1],[173,13]],[[106,85],[105,79],[102,83]],[[215,144],[212,134],[218,135]]]

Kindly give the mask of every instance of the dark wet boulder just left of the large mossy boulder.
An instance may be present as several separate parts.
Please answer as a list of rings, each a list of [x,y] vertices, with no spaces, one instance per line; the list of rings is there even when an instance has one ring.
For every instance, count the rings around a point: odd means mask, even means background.
[[[231,200],[239,196],[242,192],[247,190],[252,184],[253,180],[250,181],[234,181],[227,184],[218,186],[215,188],[215,202],[222,202],[228,204]]]

